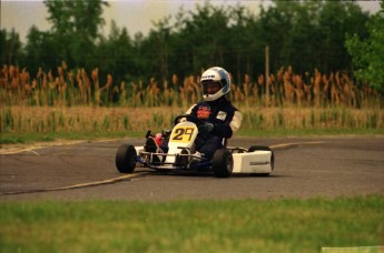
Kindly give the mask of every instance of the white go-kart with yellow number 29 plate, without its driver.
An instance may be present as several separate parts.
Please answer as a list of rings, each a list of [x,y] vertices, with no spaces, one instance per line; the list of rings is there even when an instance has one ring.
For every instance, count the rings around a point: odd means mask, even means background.
[[[180,122],[179,122],[180,121]],[[171,131],[163,131],[168,141],[168,151],[146,146],[122,144],[116,153],[116,166],[121,173],[132,173],[136,164],[155,171],[210,171],[217,178],[228,178],[232,173],[252,173],[268,175],[275,163],[274,152],[268,146],[252,145],[249,149],[227,146],[216,150],[211,160],[197,155],[195,140],[201,121],[191,114],[175,118]],[[146,135],[150,135],[148,131]]]

